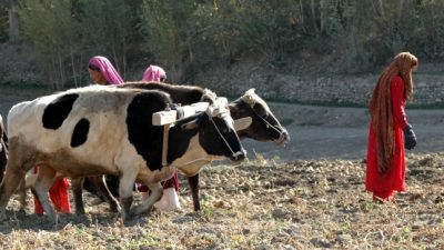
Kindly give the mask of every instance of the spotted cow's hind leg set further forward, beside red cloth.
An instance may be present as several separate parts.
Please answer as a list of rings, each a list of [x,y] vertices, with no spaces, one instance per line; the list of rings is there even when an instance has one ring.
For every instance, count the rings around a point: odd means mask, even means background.
[[[49,189],[54,183],[56,171],[47,166],[39,166],[37,180],[32,187],[32,192],[39,199],[43,211],[57,223],[58,214],[49,201]]]

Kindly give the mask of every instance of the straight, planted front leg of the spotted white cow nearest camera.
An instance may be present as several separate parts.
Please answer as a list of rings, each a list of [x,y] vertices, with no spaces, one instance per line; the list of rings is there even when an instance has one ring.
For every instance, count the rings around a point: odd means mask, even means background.
[[[125,221],[131,218],[131,204],[132,204],[132,187],[135,182],[137,171],[125,171],[120,177],[119,196],[120,203],[122,207],[121,217]]]

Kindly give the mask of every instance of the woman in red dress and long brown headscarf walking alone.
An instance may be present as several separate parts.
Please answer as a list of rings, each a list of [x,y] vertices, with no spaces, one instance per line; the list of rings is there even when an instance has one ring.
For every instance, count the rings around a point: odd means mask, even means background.
[[[373,192],[374,200],[393,202],[393,191],[405,191],[404,147],[410,150],[416,146],[405,102],[412,98],[416,67],[415,56],[398,53],[373,90],[365,189]]]

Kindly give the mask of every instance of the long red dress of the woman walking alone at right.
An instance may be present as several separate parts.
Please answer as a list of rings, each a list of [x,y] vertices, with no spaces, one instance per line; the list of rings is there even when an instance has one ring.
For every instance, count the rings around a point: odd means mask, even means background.
[[[367,169],[365,189],[374,197],[384,200],[393,198],[393,191],[405,191],[405,159],[403,128],[407,124],[405,116],[404,80],[396,76],[391,81],[392,114],[395,137],[394,156],[391,168],[377,172],[377,141],[371,122],[369,131]]]

